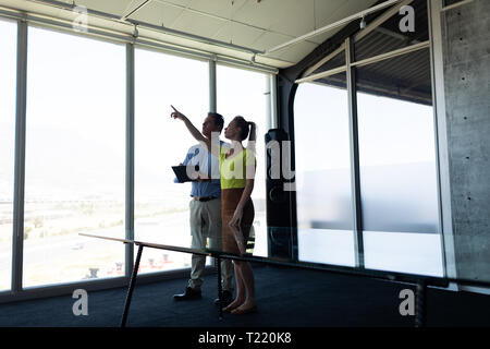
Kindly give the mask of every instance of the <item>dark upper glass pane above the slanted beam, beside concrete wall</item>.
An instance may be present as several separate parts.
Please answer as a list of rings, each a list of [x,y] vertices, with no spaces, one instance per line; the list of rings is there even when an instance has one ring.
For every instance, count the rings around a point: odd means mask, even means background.
[[[396,12],[388,21],[375,28],[364,38],[355,43],[355,60],[387,53],[429,39],[427,0],[414,0],[407,9],[411,12]],[[371,23],[380,11],[366,19],[367,25]]]

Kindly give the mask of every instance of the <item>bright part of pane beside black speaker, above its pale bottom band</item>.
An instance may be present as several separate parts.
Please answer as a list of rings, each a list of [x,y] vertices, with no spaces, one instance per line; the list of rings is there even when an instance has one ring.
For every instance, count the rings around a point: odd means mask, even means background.
[[[298,227],[352,230],[347,92],[301,84],[294,130]]]

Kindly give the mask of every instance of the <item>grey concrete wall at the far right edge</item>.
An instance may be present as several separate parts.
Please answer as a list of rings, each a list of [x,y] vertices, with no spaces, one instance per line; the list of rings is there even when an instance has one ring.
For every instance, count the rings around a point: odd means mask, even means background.
[[[490,280],[490,1],[442,13],[455,272]],[[448,253],[448,251],[446,251]]]

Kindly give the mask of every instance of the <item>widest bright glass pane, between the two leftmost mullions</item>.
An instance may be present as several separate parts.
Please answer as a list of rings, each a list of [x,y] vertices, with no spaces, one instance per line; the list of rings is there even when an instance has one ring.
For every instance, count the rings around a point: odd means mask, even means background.
[[[29,27],[24,286],[121,276],[125,49]]]

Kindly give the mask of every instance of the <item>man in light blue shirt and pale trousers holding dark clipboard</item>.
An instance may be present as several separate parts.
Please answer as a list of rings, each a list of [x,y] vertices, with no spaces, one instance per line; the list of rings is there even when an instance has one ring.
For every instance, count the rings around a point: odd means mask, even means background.
[[[221,133],[223,117],[216,112],[209,112],[203,123],[203,135],[211,140],[211,133]],[[220,141],[221,144],[223,142]],[[198,166],[199,177],[192,182],[189,208],[191,208],[191,234],[192,248],[206,248],[209,238],[210,249],[221,249],[221,184],[219,159],[212,156],[205,145],[192,146],[185,160],[185,166]],[[197,168],[197,167],[196,167]],[[191,278],[184,293],[174,294],[176,301],[199,299],[200,286],[206,265],[206,256],[193,254],[191,260]],[[221,262],[222,304],[228,305],[233,300],[233,265],[230,260]],[[218,300],[215,301],[218,304]]]

